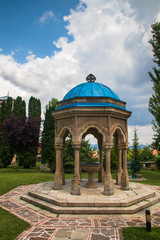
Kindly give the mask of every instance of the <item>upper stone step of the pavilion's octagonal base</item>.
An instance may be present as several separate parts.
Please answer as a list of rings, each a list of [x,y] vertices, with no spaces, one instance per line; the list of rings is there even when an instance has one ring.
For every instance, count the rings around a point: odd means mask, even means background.
[[[49,195],[36,192],[36,191],[35,192],[29,191],[28,195],[36,199],[43,200],[48,203],[52,203],[62,207],[127,207],[155,196],[155,192],[139,194],[138,197],[137,196],[132,197],[130,200],[112,201],[112,202],[104,202],[104,201],[103,202],[102,201],[87,202],[87,201],[73,201],[73,200],[66,201],[65,199],[56,198],[56,197],[53,198]]]

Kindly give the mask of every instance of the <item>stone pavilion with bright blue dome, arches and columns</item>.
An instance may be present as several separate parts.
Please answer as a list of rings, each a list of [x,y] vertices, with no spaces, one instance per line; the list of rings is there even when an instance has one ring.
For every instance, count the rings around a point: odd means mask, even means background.
[[[81,163],[80,151],[82,139],[92,134],[98,142],[99,163],[98,181],[104,182],[104,194],[114,194],[111,176],[111,149],[114,145],[118,149],[118,169],[116,184],[122,190],[128,190],[129,180],[127,172],[128,125],[127,119],[131,112],[126,110],[126,103],[109,87],[95,82],[92,74],[86,78],[87,82],[72,88],[58,102],[58,108],[53,112],[55,118],[56,135],[56,172],[54,189],[62,189],[65,184],[63,170],[63,149],[65,138],[72,135],[74,149],[74,177],[71,183],[71,194],[81,194]],[[106,171],[103,169],[103,151],[105,154]]]

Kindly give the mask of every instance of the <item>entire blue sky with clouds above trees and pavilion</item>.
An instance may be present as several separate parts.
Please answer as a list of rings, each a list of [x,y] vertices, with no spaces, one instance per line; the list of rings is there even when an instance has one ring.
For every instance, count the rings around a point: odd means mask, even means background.
[[[139,143],[151,144],[157,21],[159,0],[0,0],[0,97],[34,96],[44,111],[92,73],[132,111],[129,143],[136,127]]]

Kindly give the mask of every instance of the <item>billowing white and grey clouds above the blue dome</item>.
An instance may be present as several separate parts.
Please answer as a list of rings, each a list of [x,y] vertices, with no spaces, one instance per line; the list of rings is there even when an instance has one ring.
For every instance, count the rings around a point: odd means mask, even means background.
[[[81,0],[77,9],[64,17],[73,41],[64,36],[53,41],[58,51],[51,57],[39,58],[30,50],[27,62],[19,64],[13,54],[0,54],[0,84],[4,92],[9,86],[14,97],[17,94],[27,99],[34,95],[41,99],[44,108],[52,97],[62,100],[67,91],[93,73],[97,81],[128,103],[128,110],[134,111],[131,125],[144,121],[150,124],[147,104],[152,85],[147,72],[153,66],[148,44],[152,22],[145,25],[138,17],[145,16],[143,8],[138,15],[138,9],[130,4],[126,0]],[[152,9],[152,19],[157,16],[157,9]],[[46,11],[40,21],[53,17],[52,11]]]

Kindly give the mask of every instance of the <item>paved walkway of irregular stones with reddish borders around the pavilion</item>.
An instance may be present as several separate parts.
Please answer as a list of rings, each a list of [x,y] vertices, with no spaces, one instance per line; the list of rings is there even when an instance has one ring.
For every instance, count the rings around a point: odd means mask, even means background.
[[[144,211],[129,215],[60,215],[39,209],[20,200],[21,193],[30,186],[19,186],[0,197],[0,206],[31,227],[18,240],[122,240],[123,227],[145,227]],[[160,187],[149,186],[160,192]],[[160,226],[160,203],[149,208],[152,212],[152,226]]]

